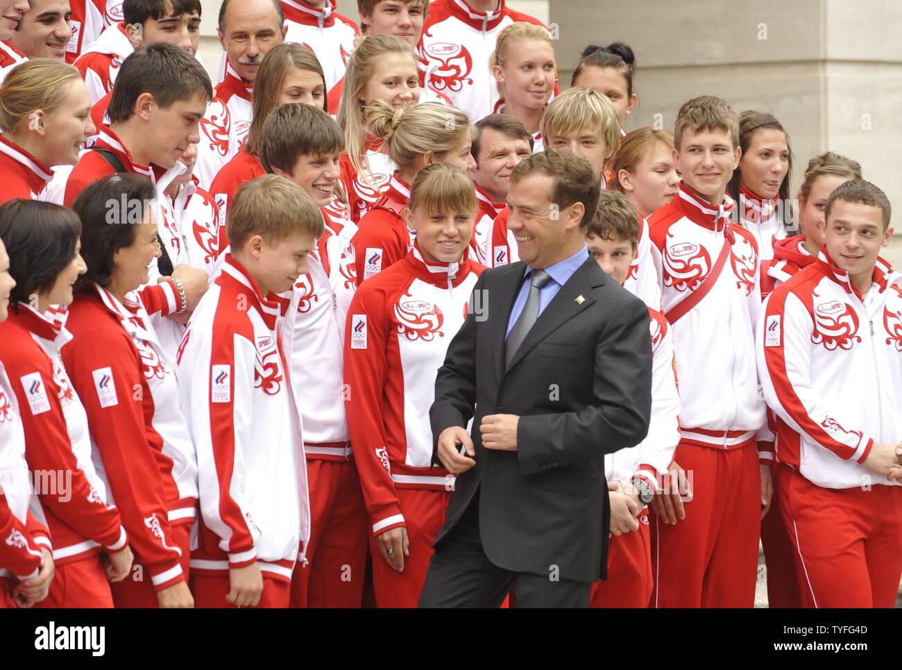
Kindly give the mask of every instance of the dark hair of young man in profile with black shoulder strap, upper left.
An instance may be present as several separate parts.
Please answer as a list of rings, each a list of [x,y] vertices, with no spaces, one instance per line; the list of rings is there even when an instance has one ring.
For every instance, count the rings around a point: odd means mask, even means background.
[[[143,93],[150,93],[163,109],[180,100],[213,99],[207,70],[188,51],[169,42],[150,42],[126,58],[113,85],[106,114],[110,123],[127,121]]]

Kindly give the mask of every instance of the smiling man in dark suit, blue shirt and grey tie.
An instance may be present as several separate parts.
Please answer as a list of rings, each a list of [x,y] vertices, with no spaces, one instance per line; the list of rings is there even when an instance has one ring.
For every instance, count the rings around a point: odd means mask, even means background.
[[[475,284],[429,411],[456,487],[420,607],[498,607],[511,587],[518,607],[588,607],[603,578],[604,454],[648,433],[651,347],[645,305],[584,243],[599,188],[566,150],[513,172],[522,262]]]

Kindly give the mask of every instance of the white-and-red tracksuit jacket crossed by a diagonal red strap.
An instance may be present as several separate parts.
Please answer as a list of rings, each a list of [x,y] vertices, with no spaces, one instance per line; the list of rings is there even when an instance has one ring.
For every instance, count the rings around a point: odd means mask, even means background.
[[[725,196],[715,207],[680,182],[667,205],[649,219],[651,242],[662,258],[664,315],[698,290],[724,245],[730,256],[710,292],[671,324],[680,377],[682,441],[729,449],[765,431],[754,329],[761,308],[755,239],[733,227]],[[769,435],[759,435],[769,442]],[[763,447],[763,445],[762,445]]]

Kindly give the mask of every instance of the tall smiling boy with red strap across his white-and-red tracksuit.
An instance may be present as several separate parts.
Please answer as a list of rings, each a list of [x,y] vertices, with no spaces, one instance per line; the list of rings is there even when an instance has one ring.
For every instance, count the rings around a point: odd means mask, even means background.
[[[724,193],[741,154],[736,113],[720,98],[689,100],[676,116],[675,146],[682,181],[649,228],[679,371],[674,459],[693,472],[694,496],[685,520],[652,518],[652,605],[751,607],[770,471],[759,472],[756,451],[765,424],[753,338],[758,250],[731,225],[735,203]]]

